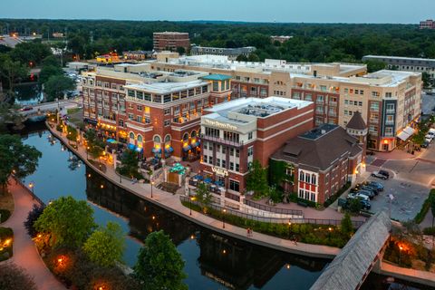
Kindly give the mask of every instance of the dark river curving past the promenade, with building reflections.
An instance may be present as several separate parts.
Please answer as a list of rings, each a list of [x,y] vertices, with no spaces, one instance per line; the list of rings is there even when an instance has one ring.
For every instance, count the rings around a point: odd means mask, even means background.
[[[330,262],[221,236],[154,206],[87,168],[59,140],[51,138],[43,123],[27,128],[23,140],[43,153],[38,169],[24,182],[33,182],[34,193],[45,203],[71,195],[88,201],[99,225],[119,223],[126,235],[124,262],[128,266],[136,263],[141,241],[160,229],[169,234],[186,261],[189,289],[309,289]],[[407,287],[384,284],[384,280],[370,275],[363,287]]]

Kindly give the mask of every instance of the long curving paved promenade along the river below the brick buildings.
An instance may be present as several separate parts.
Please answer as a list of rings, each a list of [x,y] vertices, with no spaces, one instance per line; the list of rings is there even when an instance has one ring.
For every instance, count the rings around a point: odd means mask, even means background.
[[[237,239],[245,240],[248,243],[302,256],[331,259],[341,251],[341,249],[337,247],[326,247],[303,243],[297,243],[297,245],[295,245],[293,241],[278,237],[271,237],[260,233],[254,233],[252,237],[247,237],[247,230],[245,228],[235,227],[232,225],[226,225],[226,227],[223,228],[221,221],[202,215],[198,212],[192,212],[192,215],[190,216],[189,208],[185,208],[181,204],[179,195],[172,195],[169,192],[153,188],[153,198],[150,198],[150,184],[132,184],[130,180],[120,179],[119,175],[111,167],[108,167],[106,172],[102,172],[97,167],[93,166],[92,162],[86,159],[86,150],[82,146],[79,146],[79,148],[75,150],[73,146],[69,144],[69,141],[66,139],[66,137],[64,137],[60,132],[51,128],[48,122],[45,124],[53,136],[61,140],[69,150],[73,151],[73,153],[83,160],[87,166],[89,166],[95,172],[98,172],[104,179],[109,180],[112,184],[131,192],[139,198],[143,198],[155,204],[156,206],[159,206],[160,208],[164,208],[178,215],[179,217],[186,218],[201,227],[206,227],[220,234],[227,235],[228,237],[235,237]]]

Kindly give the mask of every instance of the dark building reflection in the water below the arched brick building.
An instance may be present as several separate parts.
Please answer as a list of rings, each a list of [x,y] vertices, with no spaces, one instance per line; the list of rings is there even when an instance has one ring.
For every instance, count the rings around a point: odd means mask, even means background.
[[[129,219],[132,237],[141,241],[152,231],[163,229],[178,245],[195,232],[196,226],[169,211],[153,206],[141,198],[103,179],[92,169],[86,168],[86,195],[102,208]],[[125,179],[124,179],[125,180]],[[125,180],[123,182],[130,182]]]

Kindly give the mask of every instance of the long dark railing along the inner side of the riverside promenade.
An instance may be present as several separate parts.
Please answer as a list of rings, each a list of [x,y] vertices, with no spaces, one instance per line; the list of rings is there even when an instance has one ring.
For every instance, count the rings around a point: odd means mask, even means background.
[[[192,205],[200,206],[201,204],[196,200],[190,200],[187,196],[179,196],[179,199],[184,202],[189,202]],[[223,208],[215,204],[211,204],[208,208],[212,208],[218,210],[219,212],[223,212],[223,209],[226,211],[226,215],[236,216],[239,218],[246,218],[255,221],[261,221],[266,223],[275,223],[275,224],[287,224],[288,222],[297,223],[297,224],[313,224],[313,225],[329,225],[329,226],[339,226],[342,221],[340,219],[321,219],[321,218],[266,218],[255,215],[250,215],[235,209],[231,208]],[[222,219],[218,217],[218,219]],[[362,226],[364,222],[359,220],[353,220],[353,227],[359,228]]]

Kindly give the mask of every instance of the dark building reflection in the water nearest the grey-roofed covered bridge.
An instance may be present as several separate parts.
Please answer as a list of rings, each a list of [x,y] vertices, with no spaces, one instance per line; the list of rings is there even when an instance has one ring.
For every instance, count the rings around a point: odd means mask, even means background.
[[[287,263],[314,272],[321,271],[327,263],[255,247],[208,230],[201,231],[198,244],[202,275],[230,289],[247,289],[251,285],[262,288]]]

